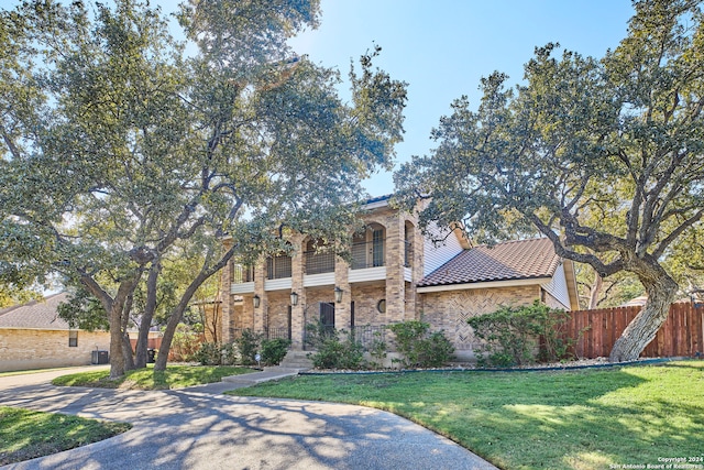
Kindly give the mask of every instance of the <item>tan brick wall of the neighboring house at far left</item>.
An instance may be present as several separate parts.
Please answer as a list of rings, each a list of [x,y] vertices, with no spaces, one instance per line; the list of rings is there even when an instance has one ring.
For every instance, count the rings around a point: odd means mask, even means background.
[[[68,330],[0,329],[0,372],[88,365],[91,351],[110,350],[107,331],[78,331],[78,346],[68,346]]]

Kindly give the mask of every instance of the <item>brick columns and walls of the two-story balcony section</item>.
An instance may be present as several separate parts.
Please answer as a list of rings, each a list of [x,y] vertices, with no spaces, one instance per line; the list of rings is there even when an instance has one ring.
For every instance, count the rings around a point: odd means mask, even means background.
[[[307,238],[302,234],[289,236],[289,241],[295,249],[292,259],[292,291],[298,293],[299,303],[292,308],[292,336],[293,348],[302,347],[304,324],[317,317],[318,302],[334,302],[334,286],[343,291],[342,302],[336,304],[336,326],[338,328],[350,327],[350,303],[355,305],[355,325],[388,325],[392,323],[409,320],[418,317],[418,297],[415,283],[422,277],[424,239],[417,229],[417,218],[409,214],[399,214],[389,207],[372,209],[363,216],[365,223],[378,223],[385,228],[385,266],[386,280],[374,283],[350,284],[348,280],[349,266],[341,259],[337,259],[334,285],[321,287],[304,287],[304,259],[302,251]],[[410,230],[413,243],[411,272],[413,282],[405,281],[404,266],[404,234],[405,227]],[[226,248],[232,243],[226,240]],[[231,264],[222,271],[222,292],[231,292]],[[223,340],[232,339],[235,328],[254,328],[261,330],[268,321],[272,328],[287,325],[287,306],[290,304],[290,292],[265,292],[265,263],[260,262],[255,267],[254,293],[243,295],[241,305],[234,303],[234,296],[226,294],[223,297]],[[252,307],[252,296],[260,296],[262,305],[256,310]],[[378,300],[386,300],[386,314],[376,309]],[[304,316],[306,317],[304,319]]]

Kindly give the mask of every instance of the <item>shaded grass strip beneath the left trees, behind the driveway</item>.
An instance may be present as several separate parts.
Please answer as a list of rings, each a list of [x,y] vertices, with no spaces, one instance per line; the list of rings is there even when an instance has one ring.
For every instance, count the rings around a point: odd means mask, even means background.
[[[110,371],[81,372],[62,375],[54,385],[90,386],[98,389],[168,390],[220,382],[223,376],[253,372],[252,369],[213,365],[168,365],[164,372],[153,367],[129,371],[118,380],[110,380]]]

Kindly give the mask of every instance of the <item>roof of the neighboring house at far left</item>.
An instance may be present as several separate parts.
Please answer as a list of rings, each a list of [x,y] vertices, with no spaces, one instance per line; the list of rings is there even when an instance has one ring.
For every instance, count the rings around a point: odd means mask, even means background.
[[[67,302],[68,293],[50,295],[0,310],[0,328],[68,330],[68,324],[58,317],[58,304]]]

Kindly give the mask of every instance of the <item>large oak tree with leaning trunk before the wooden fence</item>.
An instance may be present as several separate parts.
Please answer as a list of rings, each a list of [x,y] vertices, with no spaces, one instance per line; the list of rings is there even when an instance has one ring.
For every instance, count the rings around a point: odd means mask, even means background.
[[[601,59],[548,44],[521,85],[484,78],[479,109],[454,101],[438,146],[396,175],[407,201],[429,199],[425,222],[480,241],[532,226],[603,277],[635,274],[649,302],[613,360],[637,358],[667,318],[678,285],[661,260],[704,215],[701,2],[634,6],[627,37]]]

